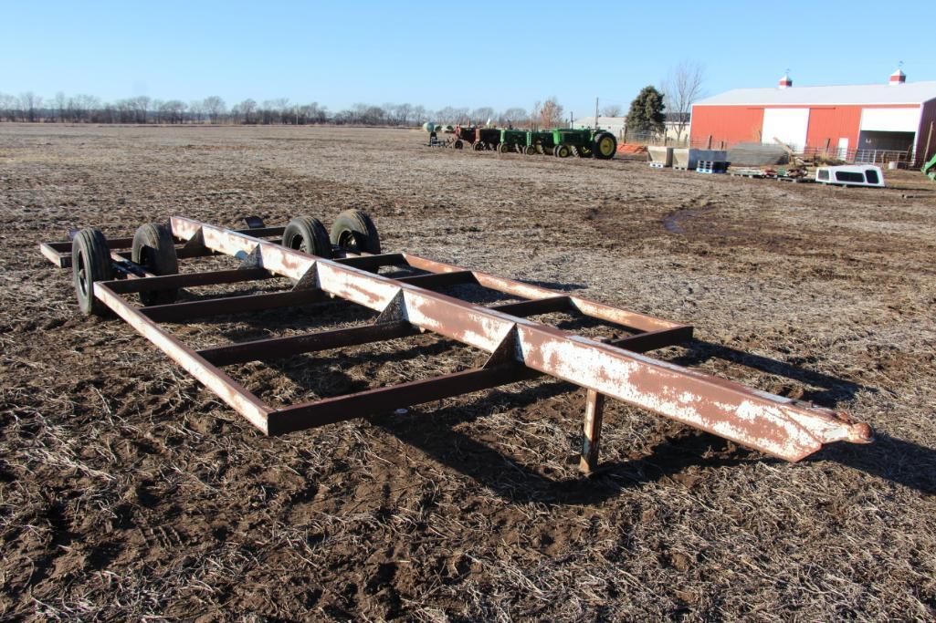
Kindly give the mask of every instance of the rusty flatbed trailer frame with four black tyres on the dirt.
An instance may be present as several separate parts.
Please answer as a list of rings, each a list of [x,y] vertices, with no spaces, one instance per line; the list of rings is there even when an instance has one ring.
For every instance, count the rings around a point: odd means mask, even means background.
[[[142,225],[132,238],[106,239],[93,228],[70,241],[43,243],[53,264],[71,268],[82,312],[122,318],[268,435],[451,398],[551,375],[586,389],[580,469],[598,461],[602,410],[617,398],[646,411],[797,461],[829,442],[870,442],[868,425],[843,413],[654,359],[645,353],[692,338],[693,327],[546,288],[406,253],[385,253],[363,212],[338,215],[330,234],[317,219],[285,227],[258,219],[232,230],[174,216]],[[231,268],[180,272],[180,260],[228,258]],[[380,274],[380,269],[387,274]],[[390,272],[388,272],[390,271]],[[283,284],[260,294],[197,298],[216,284]],[[516,302],[475,304],[457,297],[465,284]],[[446,291],[448,292],[446,294]],[[194,349],[166,324],[196,318],[329,302],[373,313],[367,324]],[[346,309],[346,308],[342,308]],[[563,312],[611,326],[590,339],[536,322]],[[434,378],[274,407],[223,368],[430,332],[480,352],[474,367]],[[428,426],[428,425],[427,425]]]

